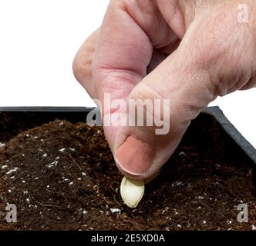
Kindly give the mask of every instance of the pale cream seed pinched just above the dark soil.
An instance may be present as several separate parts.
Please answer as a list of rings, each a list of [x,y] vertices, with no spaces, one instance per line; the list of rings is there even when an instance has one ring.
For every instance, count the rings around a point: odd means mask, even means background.
[[[136,208],[143,198],[144,189],[144,181],[123,177],[120,192],[124,203],[130,208]]]

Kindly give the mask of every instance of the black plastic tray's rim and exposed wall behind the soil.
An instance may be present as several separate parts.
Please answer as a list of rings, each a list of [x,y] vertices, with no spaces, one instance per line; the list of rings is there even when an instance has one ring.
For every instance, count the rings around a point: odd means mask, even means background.
[[[0,107],[0,141],[7,141],[19,133],[19,130],[26,130],[37,125],[42,125],[55,118],[66,119],[73,123],[77,121],[86,121],[86,115],[95,108],[84,107]],[[227,120],[223,112],[218,107],[206,108],[200,117],[213,117],[221,128],[227,132],[227,135],[234,141],[241,150],[256,165],[255,148],[241,135],[239,131]],[[205,118],[207,120],[207,118]],[[29,123],[28,123],[29,122]],[[5,124],[6,123],[6,124]],[[192,122],[193,123],[193,122]],[[11,125],[10,125],[11,124]],[[193,124],[192,124],[193,125]],[[194,123],[197,125],[197,122]],[[199,129],[198,129],[199,128]],[[202,126],[197,125],[200,131]]]

